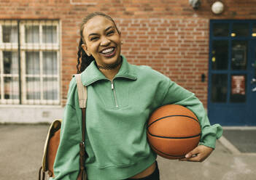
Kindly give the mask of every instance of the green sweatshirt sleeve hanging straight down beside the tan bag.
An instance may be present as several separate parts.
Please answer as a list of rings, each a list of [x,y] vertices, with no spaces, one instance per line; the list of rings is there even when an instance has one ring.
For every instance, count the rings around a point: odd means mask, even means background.
[[[74,87],[69,86],[69,97],[74,94]],[[65,106],[61,124],[60,144],[54,163],[53,180],[74,180],[79,173],[79,141],[81,134],[76,108],[68,103]]]

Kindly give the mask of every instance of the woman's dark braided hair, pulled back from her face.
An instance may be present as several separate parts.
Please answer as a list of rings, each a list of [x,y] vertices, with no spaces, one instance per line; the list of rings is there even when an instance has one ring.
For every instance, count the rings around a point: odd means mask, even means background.
[[[78,52],[77,52],[77,73],[82,73],[82,71],[84,71],[86,67],[90,65],[90,62],[93,62],[95,60],[92,55],[88,56],[85,53],[85,50],[82,49],[82,44],[85,44],[85,38],[83,37],[82,32],[85,28],[85,24],[88,23],[88,20],[96,16],[106,17],[107,19],[111,20],[114,23],[115,28],[117,29],[117,25],[115,24],[115,21],[112,19],[112,17],[102,12],[93,12],[82,20],[82,24],[80,27],[80,41],[79,41]],[[120,33],[118,29],[117,29],[117,32]]]

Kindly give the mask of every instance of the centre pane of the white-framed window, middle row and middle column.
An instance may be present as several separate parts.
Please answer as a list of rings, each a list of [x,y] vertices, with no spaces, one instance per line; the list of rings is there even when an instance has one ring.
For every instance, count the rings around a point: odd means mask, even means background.
[[[39,52],[26,52],[26,74],[40,73]]]

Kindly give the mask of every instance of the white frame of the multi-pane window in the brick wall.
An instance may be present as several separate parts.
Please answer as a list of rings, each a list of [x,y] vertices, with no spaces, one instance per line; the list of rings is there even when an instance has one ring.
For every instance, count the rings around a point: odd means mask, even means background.
[[[18,25],[18,20],[0,20],[0,68],[1,68],[1,99],[0,104],[3,105],[60,105],[61,104],[61,79],[60,79],[60,22],[58,20],[20,20],[19,30],[20,30],[20,86],[21,86],[21,103],[20,99],[4,99],[4,77],[18,77],[18,75],[4,75],[4,64],[3,64],[3,52],[4,51],[15,51],[18,52],[18,43],[3,43],[2,39],[2,25]],[[26,25],[38,25],[39,26],[39,43],[26,43],[25,41],[25,26]],[[42,27],[44,25],[56,26],[56,42],[55,43],[43,43],[42,41]],[[39,64],[40,64],[40,74],[39,75],[27,75],[26,74],[26,52],[39,52]],[[57,73],[53,75],[43,75],[43,52],[56,52],[57,53]],[[26,99],[27,88],[26,88],[26,78],[36,77],[40,78],[40,99]],[[43,78],[56,78],[57,99],[43,99]]]

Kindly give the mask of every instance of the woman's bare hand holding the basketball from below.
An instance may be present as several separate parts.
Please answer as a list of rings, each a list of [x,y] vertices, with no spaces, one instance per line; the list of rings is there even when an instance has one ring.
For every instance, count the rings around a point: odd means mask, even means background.
[[[193,161],[193,162],[203,162],[213,151],[212,147],[206,147],[203,145],[199,145],[195,147],[194,150],[190,151],[185,155],[185,158],[180,160],[182,161]]]

